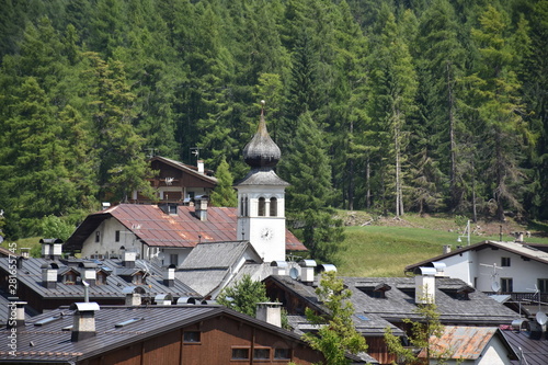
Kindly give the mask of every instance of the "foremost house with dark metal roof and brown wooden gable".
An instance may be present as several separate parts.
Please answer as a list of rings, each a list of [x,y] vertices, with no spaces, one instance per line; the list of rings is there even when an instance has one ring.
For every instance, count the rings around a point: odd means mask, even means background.
[[[210,305],[76,303],[21,321],[15,330],[16,349],[1,346],[2,364],[306,365],[323,360],[295,333]],[[0,330],[0,335],[10,331]]]

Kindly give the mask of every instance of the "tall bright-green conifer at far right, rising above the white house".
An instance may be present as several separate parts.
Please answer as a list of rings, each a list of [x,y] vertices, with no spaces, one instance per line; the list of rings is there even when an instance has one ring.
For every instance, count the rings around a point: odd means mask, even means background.
[[[484,175],[490,196],[495,202],[494,215],[504,220],[504,209],[522,209],[518,183],[524,178],[517,151],[528,130],[521,116],[521,84],[512,69],[514,49],[510,41],[510,20],[492,5],[480,14],[472,38],[479,50],[477,73],[469,77],[479,117],[483,124],[482,151]]]

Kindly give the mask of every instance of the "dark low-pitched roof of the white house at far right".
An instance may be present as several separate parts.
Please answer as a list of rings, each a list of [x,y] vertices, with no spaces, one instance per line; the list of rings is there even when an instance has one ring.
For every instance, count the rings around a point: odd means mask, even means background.
[[[546,252],[548,246],[539,246],[539,244],[534,244],[529,246],[527,243],[523,242],[501,242],[501,241],[482,241],[476,244],[471,246],[465,246],[460,249],[457,249],[455,251],[452,251],[449,253],[444,253],[441,255],[437,255],[435,258],[429,259],[421,261],[419,263],[406,266],[404,271],[406,272],[412,272],[416,267],[430,265],[432,262],[435,261],[443,261],[444,259],[460,254],[466,251],[479,251],[483,250],[487,248],[496,248],[501,249],[507,252],[512,252],[518,255],[522,255],[524,258],[528,258],[533,261],[538,261],[544,264],[548,264],[548,253]]]

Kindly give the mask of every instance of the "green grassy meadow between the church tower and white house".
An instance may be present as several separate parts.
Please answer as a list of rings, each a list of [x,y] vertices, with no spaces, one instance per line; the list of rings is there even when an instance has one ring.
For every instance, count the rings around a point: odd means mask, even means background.
[[[375,226],[346,227],[344,250],[340,254],[339,274],[343,276],[403,276],[403,267],[443,253],[443,246],[467,244],[466,237],[457,242],[461,229],[453,218],[421,218],[406,216],[403,221],[378,220]],[[377,226],[378,225],[378,226]],[[499,224],[488,227],[480,224],[481,236],[472,235],[470,242],[499,240],[492,235],[500,229]],[[426,228],[423,228],[426,227]],[[472,226],[472,230],[476,226]],[[517,226],[504,226],[503,231],[517,230]],[[525,230],[525,228],[524,228]],[[504,235],[504,240],[511,240]],[[548,238],[532,237],[527,242],[548,243]]]

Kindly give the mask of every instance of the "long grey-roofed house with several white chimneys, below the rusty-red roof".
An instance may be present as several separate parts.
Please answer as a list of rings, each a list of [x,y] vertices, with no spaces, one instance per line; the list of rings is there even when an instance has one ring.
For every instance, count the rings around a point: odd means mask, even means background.
[[[134,252],[125,252],[122,260],[90,261],[61,259],[53,253],[53,249],[44,251],[52,254],[23,259],[18,264],[16,296],[26,301],[27,310],[34,313],[84,301],[84,298],[101,305],[124,305],[134,293],[150,304],[161,296],[170,296],[172,301],[202,299],[199,294],[175,278],[173,266],[159,267],[136,260]],[[8,259],[0,258],[0,288],[4,293],[8,293],[9,267]]]

